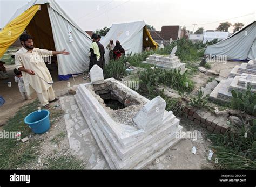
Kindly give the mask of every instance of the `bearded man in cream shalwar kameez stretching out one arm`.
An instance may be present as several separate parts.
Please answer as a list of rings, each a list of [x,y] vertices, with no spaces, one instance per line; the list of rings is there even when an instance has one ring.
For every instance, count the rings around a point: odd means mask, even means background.
[[[49,102],[54,102],[58,98],[55,97],[52,85],[47,83],[53,81],[43,57],[57,54],[69,55],[69,52],[65,52],[65,49],[58,52],[34,48],[33,38],[28,34],[22,34],[19,40],[23,47],[15,54],[16,68],[23,71],[22,75],[28,95],[30,95],[31,90],[35,90],[41,105],[49,108]]]

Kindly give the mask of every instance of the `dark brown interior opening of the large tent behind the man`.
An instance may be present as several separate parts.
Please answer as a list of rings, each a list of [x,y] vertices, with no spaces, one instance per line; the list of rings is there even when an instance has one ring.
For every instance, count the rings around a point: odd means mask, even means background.
[[[26,32],[32,35],[35,47],[56,51],[47,4],[41,5],[26,27]]]

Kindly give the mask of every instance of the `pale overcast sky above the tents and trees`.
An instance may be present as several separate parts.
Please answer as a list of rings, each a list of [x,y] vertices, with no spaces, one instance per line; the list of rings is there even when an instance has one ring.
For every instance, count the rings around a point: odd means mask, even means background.
[[[5,26],[14,12],[28,0],[0,0],[0,27]],[[161,30],[163,25],[198,27],[215,30],[222,21],[245,25],[256,20],[255,0],[56,0],[58,4],[86,31],[95,31],[113,23],[144,20]],[[250,15],[251,14],[251,15]],[[232,32],[232,27],[230,27]]]

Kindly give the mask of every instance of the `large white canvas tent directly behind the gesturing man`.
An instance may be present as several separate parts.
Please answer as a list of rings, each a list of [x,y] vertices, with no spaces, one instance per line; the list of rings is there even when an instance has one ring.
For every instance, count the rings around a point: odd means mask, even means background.
[[[37,5],[40,5],[40,7],[32,15],[30,10]],[[83,73],[83,71],[89,69],[88,54],[92,42],[91,37],[55,1],[36,0],[27,3],[12,16],[9,21],[11,26],[15,26],[15,24],[19,26],[18,24],[21,23],[18,22],[18,19],[24,13],[26,14],[24,20],[28,21],[29,17],[31,17],[31,20],[28,25],[23,25],[25,27],[23,30],[25,29],[28,34],[32,35],[35,47],[55,51],[66,49],[70,52],[68,56],[57,55],[60,80],[66,80],[71,74]],[[6,26],[10,27],[9,23]],[[73,38],[72,42],[70,42],[69,31]],[[19,35],[17,34],[16,39]],[[12,40],[10,45],[11,42]]]

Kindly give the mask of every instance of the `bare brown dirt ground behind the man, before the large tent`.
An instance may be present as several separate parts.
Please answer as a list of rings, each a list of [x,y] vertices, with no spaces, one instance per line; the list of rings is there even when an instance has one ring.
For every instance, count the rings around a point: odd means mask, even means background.
[[[14,116],[14,114],[25,104],[33,102],[37,98],[36,93],[31,95],[31,100],[23,100],[21,93],[19,93],[18,83],[14,81],[14,72],[15,65],[6,65],[7,74],[9,78],[6,80],[0,80],[0,95],[5,99],[5,104],[0,107],[0,126],[4,124],[9,117]],[[83,76],[80,75],[75,78],[70,78],[68,81],[59,81],[57,74],[57,67],[53,66],[49,68],[52,75],[54,84],[52,85],[55,90],[55,95],[57,97],[65,95],[68,93],[67,89],[76,84],[86,83],[87,80],[83,80]],[[10,85],[10,86],[9,86]],[[1,127],[0,127],[1,128]]]

